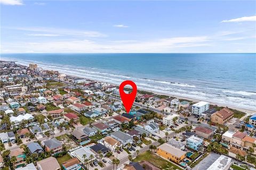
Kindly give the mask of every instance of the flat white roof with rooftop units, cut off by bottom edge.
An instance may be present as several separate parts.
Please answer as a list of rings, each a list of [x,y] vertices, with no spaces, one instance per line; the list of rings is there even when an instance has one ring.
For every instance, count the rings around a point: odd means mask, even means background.
[[[221,155],[207,170],[223,170],[231,163],[231,158]]]

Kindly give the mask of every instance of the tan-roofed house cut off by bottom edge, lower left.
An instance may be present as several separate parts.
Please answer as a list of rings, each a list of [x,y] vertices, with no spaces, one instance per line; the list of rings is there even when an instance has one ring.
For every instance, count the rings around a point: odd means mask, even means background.
[[[56,158],[49,157],[43,160],[38,161],[37,163],[38,170],[60,170],[60,165]]]

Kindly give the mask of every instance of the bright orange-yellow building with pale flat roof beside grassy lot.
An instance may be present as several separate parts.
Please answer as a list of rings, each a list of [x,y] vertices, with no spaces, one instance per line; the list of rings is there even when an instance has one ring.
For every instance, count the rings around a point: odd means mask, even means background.
[[[172,160],[175,163],[180,163],[185,157],[186,152],[173,147],[168,143],[164,143],[157,147],[157,154],[165,159]]]

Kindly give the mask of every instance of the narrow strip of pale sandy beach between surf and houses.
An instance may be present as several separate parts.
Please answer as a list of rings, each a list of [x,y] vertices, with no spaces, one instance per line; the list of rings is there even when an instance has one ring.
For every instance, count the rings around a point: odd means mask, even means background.
[[[16,62],[19,62],[19,61],[16,61]],[[27,67],[27,65],[25,65],[25,64],[20,64],[20,65]],[[43,68],[43,70],[46,70],[46,69]],[[56,69],[56,70],[58,70],[58,69]],[[66,74],[65,72],[61,72],[61,71],[59,71],[59,74],[65,74],[65,75],[70,76],[70,77],[83,78],[83,79],[92,80],[92,81],[95,81],[95,82],[108,83],[108,82],[103,82],[103,81],[97,80],[97,79],[91,79],[91,78],[86,78],[86,77],[83,77],[83,76],[81,77],[81,76],[75,76],[75,75]],[[115,83],[108,83],[108,84],[119,86],[119,84],[115,84]],[[143,90],[141,88],[138,88],[138,90],[154,93],[156,95],[172,96],[172,97],[177,98],[177,99],[190,100],[190,101],[195,101],[195,102],[202,101],[202,100],[193,99],[193,98],[187,98],[187,97],[183,97],[183,96],[179,96],[179,95],[171,95],[171,94],[159,93],[159,92],[150,91],[150,90]],[[231,109],[236,109],[236,110],[239,110],[239,111],[243,111],[243,112],[245,112],[246,114],[249,114],[249,115],[254,114],[256,112],[256,110],[239,108],[239,107],[235,107],[235,106],[231,106],[231,105],[225,105],[225,104],[222,104],[222,103],[214,103],[214,102],[211,102],[209,100],[203,100],[203,101],[209,102],[212,105],[217,105],[217,106],[221,106],[221,107],[228,107],[228,108],[231,108]]]

